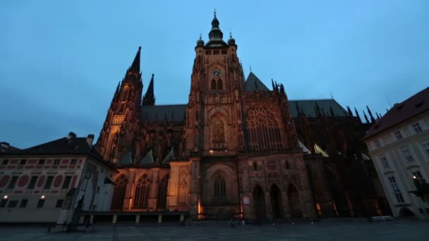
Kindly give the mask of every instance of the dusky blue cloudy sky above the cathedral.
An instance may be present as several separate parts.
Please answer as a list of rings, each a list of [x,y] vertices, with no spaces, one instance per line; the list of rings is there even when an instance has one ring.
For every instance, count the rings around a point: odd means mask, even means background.
[[[289,99],[384,114],[429,83],[429,1],[0,1],[0,142],[99,135],[142,47],[143,92],[185,104],[194,47],[217,9],[245,75]]]

